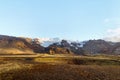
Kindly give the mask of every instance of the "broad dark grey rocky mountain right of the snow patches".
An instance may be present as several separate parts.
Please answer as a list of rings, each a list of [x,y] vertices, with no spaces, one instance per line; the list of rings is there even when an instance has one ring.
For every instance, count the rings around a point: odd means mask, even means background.
[[[83,50],[88,54],[109,54],[111,53],[112,45],[104,40],[89,40],[83,46]]]

